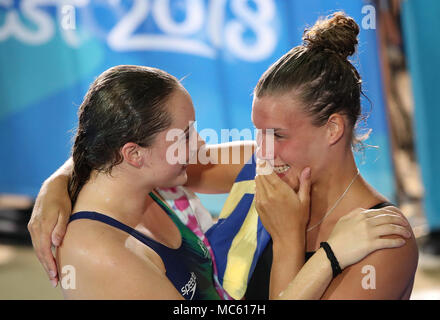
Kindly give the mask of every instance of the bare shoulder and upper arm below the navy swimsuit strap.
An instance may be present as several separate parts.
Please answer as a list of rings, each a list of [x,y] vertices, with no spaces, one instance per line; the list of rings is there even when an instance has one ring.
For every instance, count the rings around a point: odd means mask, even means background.
[[[148,255],[141,256],[127,247],[128,237],[96,221],[72,222],[57,250],[64,296],[68,299],[178,299],[180,295],[165,271]],[[158,287],[164,290],[159,292]]]

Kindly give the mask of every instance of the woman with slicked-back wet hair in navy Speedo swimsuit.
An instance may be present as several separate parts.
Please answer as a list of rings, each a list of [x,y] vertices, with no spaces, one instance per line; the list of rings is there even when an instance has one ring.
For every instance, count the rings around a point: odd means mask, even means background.
[[[75,272],[66,298],[220,298],[207,248],[156,190],[186,182],[186,165],[166,155],[177,143],[189,156],[193,121],[190,96],[162,70],[118,66],[90,86],[72,149],[73,214],[57,250],[60,269]],[[160,210],[144,215],[151,205]]]

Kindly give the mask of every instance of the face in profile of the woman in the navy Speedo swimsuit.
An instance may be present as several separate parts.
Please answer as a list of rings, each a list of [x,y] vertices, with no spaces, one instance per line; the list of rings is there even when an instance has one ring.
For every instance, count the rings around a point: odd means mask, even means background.
[[[155,187],[173,187],[185,184],[186,167],[190,154],[196,146],[190,143],[195,134],[193,123],[195,112],[188,92],[179,87],[166,103],[172,122],[168,129],[160,132],[151,147],[146,148],[146,170]]]

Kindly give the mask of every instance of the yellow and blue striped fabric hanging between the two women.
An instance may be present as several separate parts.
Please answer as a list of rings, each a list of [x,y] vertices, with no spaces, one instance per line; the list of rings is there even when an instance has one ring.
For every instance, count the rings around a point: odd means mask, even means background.
[[[258,258],[270,240],[255,208],[255,155],[244,165],[229,193],[218,222],[205,234],[223,288],[243,298]]]

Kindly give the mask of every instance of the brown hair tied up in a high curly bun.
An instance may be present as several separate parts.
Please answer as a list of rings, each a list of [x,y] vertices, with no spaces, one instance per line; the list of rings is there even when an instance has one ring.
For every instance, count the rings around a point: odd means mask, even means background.
[[[347,116],[352,129],[361,116],[362,80],[348,57],[358,44],[359,26],[335,12],[304,31],[299,45],[269,67],[254,90],[257,98],[292,92],[316,126],[334,113]],[[354,130],[353,130],[354,131]],[[360,142],[352,136],[352,144]]]

